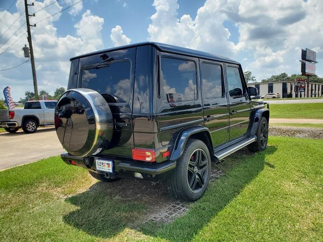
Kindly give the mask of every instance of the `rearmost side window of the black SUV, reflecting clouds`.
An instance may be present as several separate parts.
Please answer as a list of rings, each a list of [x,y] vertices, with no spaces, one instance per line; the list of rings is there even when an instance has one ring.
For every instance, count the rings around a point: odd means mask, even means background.
[[[195,100],[196,66],[192,61],[161,58],[160,96],[165,102]]]

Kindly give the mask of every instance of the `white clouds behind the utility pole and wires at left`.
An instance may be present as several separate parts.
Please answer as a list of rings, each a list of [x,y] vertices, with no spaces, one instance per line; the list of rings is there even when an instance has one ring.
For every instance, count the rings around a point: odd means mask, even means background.
[[[35,6],[30,7],[29,11],[32,14],[48,4],[51,0],[44,0],[43,3],[35,2]],[[50,15],[57,13],[63,9],[59,5],[60,2],[52,4],[49,8],[36,13],[36,17],[30,18],[30,23],[36,23]],[[8,23],[13,23],[21,13],[25,11],[24,1],[17,1],[17,13],[8,13],[6,19]],[[31,11],[32,10],[32,11]],[[58,21],[60,13],[45,21],[37,24],[36,28],[31,28],[33,38],[33,48],[35,56],[35,66],[37,70],[38,91],[46,90],[53,94],[58,87],[67,87],[68,77],[70,72],[69,58],[81,53],[86,53],[101,49],[103,47],[101,30],[103,18],[91,14],[87,10],[81,20],[75,24],[76,36],[66,35],[58,36],[57,28],[54,26],[55,21]],[[16,29],[24,23],[25,19],[21,17],[16,24],[0,39],[2,45]],[[0,25],[0,33],[3,33],[8,25]],[[10,25],[9,25],[10,26]],[[8,48],[19,36],[26,31],[25,27],[21,28],[8,43],[1,49],[0,53]],[[27,44],[26,37],[22,37],[8,51],[0,56],[0,70],[8,67],[16,66],[24,61],[21,48]],[[6,72],[0,72],[0,89],[10,85],[12,87],[12,95],[15,101],[20,97],[24,97],[25,91],[33,91],[33,81],[30,63]],[[2,97],[2,96],[1,96]]]

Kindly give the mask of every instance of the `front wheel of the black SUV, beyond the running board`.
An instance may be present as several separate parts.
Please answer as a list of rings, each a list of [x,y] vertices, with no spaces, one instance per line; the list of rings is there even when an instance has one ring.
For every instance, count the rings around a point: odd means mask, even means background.
[[[261,117],[260,119],[256,136],[257,140],[248,145],[248,149],[252,152],[265,150],[268,142],[268,122],[265,117]]]

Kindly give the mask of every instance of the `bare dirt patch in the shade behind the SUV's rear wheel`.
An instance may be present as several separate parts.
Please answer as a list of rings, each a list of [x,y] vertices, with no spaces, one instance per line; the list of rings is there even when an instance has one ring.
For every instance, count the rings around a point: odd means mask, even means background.
[[[224,174],[223,170],[212,164],[210,182]],[[140,229],[143,223],[171,222],[183,216],[189,210],[189,202],[175,199],[168,193],[167,186],[162,182],[152,182],[140,179],[121,179],[115,183],[97,183],[89,189],[90,192],[104,193],[116,202],[132,201],[147,207],[140,224],[128,226]]]

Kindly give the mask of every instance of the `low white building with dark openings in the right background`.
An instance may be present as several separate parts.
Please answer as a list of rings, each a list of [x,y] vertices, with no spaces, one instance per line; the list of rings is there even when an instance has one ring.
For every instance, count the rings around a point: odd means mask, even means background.
[[[302,89],[302,86],[305,88]],[[294,81],[280,82],[253,82],[248,83],[248,87],[258,89],[258,95],[263,96],[267,93],[279,93],[281,97],[307,97],[307,83],[298,86]],[[309,97],[323,96],[323,83],[309,83]]]

